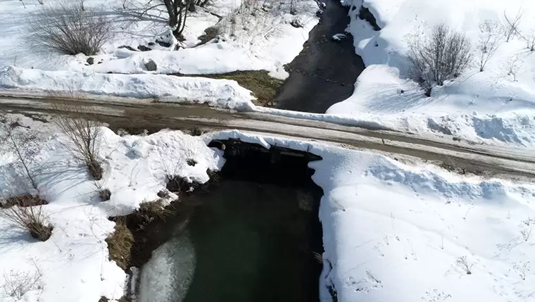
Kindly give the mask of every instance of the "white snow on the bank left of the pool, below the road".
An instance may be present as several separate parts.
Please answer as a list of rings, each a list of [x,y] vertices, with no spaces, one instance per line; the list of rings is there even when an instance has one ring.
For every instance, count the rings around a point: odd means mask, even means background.
[[[32,127],[42,129],[39,125],[34,122]],[[53,134],[32,163],[32,168],[42,169],[37,182],[49,201],[43,208],[54,227],[52,237],[34,241],[0,218],[0,284],[6,284],[11,275],[32,277],[39,271],[42,277],[23,296],[24,301],[118,299],[123,294],[125,272],[108,260],[104,239],[114,226],[108,217],[132,213],[139,203],[157,199],[158,191],[165,188],[165,175],[206,182],[206,170],[218,170],[224,160],[202,139],[181,132],[119,137],[103,128],[101,159],[106,174],[101,184],[112,196],[110,201],[99,202],[87,168],[65,151],[65,144],[62,134]],[[194,167],[186,163],[191,157],[197,162]],[[0,160],[4,176],[13,157],[1,156]],[[13,188],[3,181],[0,191],[8,197]],[[10,299],[0,287],[0,301]]]

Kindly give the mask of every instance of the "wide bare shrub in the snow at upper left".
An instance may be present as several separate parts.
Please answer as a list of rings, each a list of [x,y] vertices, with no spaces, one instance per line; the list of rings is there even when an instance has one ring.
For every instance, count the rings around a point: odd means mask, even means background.
[[[42,10],[28,21],[33,33],[32,46],[59,51],[61,54],[97,54],[111,37],[111,20],[83,0],[61,0]]]

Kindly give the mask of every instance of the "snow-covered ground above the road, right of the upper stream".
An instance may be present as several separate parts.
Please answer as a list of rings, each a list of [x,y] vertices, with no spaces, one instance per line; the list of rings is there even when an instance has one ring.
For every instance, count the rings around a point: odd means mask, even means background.
[[[351,6],[348,32],[356,53],[367,68],[358,77],[355,92],[327,113],[375,120],[398,130],[453,134],[472,141],[535,146],[534,52],[518,34],[505,42],[479,72],[479,24],[491,20],[507,27],[522,11],[519,30],[530,39],[535,33],[535,2],[463,0],[344,0]],[[382,28],[374,31],[360,20],[360,7],[368,8]],[[353,9],[353,7],[355,9]],[[457,79],[436,87],[431,97],[408,80],[406,58],[411,34],[439,23],[467,34],[474,63]],[[510,73],[512,66],[513,74]]]

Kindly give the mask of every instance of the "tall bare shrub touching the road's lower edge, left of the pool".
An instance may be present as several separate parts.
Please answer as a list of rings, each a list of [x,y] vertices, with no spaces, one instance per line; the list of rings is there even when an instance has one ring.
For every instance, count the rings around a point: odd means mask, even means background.
[[[69,139],[70,144],[65,144],[65,147],[87,165],[95,180],[101,180],[103,169],[99,149],[103,124],[92,116],[88,107],[56,104],[54,108],[63,112],[53,122]]]

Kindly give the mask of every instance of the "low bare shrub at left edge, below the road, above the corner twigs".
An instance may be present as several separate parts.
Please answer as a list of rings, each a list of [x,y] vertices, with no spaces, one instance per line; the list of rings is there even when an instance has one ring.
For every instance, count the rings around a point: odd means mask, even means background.
[[[53,227],[46,221],[41,206],[13,206],[0,211],[0,216],[11,222],[11,225],[30,232],[30,235],[41,241],[48,240]]]

